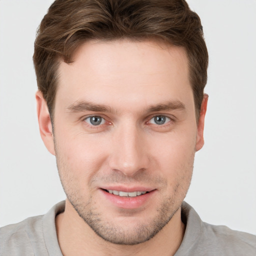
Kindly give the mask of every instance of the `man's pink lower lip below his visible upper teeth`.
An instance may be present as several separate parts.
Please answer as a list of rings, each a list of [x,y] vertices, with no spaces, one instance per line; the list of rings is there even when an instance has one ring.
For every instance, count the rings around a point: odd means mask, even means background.
[[[149,201],[151,196],[154,194],[155,190],[147,192],[145,194],[141,194],[138,196],[119,196],[115,194],[110,194],[103,189],[100,189],[103,195],[107,198],[107,200],[111,201],[115,206],[124,209],[135,209],[141,207]]]

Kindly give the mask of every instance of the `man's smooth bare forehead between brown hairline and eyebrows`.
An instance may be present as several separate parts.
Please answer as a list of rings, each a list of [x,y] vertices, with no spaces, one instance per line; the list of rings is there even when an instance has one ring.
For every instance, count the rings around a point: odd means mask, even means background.
[[[192,96],[182,47],[159,41],[87,41],[59,65],[59,98],[113,105],[154,104]],[[113,99],[115,98],[115,101]]]

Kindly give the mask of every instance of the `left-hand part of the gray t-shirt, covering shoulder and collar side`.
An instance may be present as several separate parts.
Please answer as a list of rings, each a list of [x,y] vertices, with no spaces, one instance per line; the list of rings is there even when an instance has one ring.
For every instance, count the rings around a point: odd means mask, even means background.
[[[61,201],[44,215],[1,227],[0,256],[61,256],[55,216],[64,211],[64,208],[65,201]]]

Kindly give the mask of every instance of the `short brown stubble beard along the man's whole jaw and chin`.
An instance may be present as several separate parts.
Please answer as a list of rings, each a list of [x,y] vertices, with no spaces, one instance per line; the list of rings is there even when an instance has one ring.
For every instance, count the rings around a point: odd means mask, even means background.
[[[125,226],[125,221],[118,224],[114,219],[113,221],[105,220],[103,216],[104,213],[96,208],[92,197],[85,202],[84,198],[79,195],[79,191],[76,190],[79,186],[78,182],[75,181],[75,178],[71,174],[72,171],[67,167],[65,162],[62,161],[63,159],[60,160],[57,155],[56,159],[62,187],[75,211],[99,237],[114,244],[134,245],[154,237],[179,209],[191,180],[191,175],[180,177],[180,182],[176,185],[173,194],[162,200],[159,207],[156,209],[155,216],[151,219],[147,219],[144,223],[137,221],[131,228]],[[190,168],[192,169],[192,165]],[[192,170],[190,171],[192,173]],[[107,177],[107,179],[110,178]],[[123,180],[125,178],[126,177],[123,177]],[[117,177],[116,181],[120,181],[120,179],[122,178]],[[185,189],[184,186],[186,187]],[[180,187],[182,187],[181,190]]]

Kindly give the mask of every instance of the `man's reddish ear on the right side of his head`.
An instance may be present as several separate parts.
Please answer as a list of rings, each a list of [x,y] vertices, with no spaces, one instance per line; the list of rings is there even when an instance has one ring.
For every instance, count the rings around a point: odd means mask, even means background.
[[[204,117],[207,109],[207,102],[208,102],[208,95],[204,93],[202,103],[201,103],[200,116],[197,124],[195,151],[200,150],[204,144],[203,129],[204,129]]]

